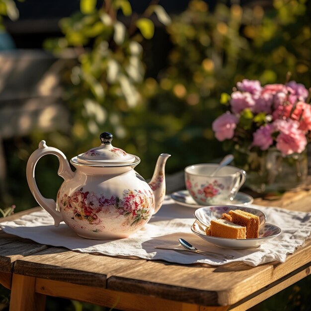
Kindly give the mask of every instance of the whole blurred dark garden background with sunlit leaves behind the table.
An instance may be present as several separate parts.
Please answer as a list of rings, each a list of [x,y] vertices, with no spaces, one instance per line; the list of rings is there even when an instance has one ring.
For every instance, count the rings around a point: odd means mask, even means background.
[[[291,72],[311,86],[310,16],[307,0],[0,0],[0,208],[37,206],[26,163],[42,139],[71,158],[111,132],[146,179],[160,153],[173,174],[230,152],[212,122],[237,81]],[[57,169],[53,156],[37,165],[45,197]],[[310,310],[310,288],[309,277],[280,294],[284,307],[257,310]],[[103,310],[57,304],[47,309]]]

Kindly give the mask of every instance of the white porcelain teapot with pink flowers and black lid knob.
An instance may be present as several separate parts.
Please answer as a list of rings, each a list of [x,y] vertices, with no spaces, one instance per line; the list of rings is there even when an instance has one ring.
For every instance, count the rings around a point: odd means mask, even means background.
[[[140,230],[162,205],[165,196],[164,167],[168,154],[161,154],[149,183],[134,168],[140,158],[112,146],[112,134],[100,135],[101,145],[74,156],[70,162],[45,141],[29,157],[26,168],[29,188],[56,227],[64,221],[75,233],[90,239],[124,238]],[[35,167],[45,155],[58,157],[58,175],[64,182],[56,201],[40,193]]]

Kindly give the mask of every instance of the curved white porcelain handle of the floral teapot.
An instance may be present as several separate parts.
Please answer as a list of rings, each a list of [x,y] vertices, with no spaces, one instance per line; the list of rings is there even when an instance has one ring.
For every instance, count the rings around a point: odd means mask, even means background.
[[[66,156],[57,148],[48,147],[45,141],[39,143],[39,148],[32,153],[27,162],[26,175],[30,191],[40,206],[53,217],[55,227],[58,227],[60,222],[63,221],[62,214],[56,210],[56,203],[53,199],[47,199],[40,193],[35,179],[36,164],[45,155],[58,157],[60,161],[58,175],[63,177],[65,181],[73,178],[75,173],[71,170]]]

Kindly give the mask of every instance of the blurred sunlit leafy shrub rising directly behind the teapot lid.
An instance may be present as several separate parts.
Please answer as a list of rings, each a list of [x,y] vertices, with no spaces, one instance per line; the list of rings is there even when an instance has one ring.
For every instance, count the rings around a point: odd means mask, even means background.
[[[77,65],[64,75],[65,100],[73,116],[71,148],[64,151],[69,156],[84,152],[99,144],[101,132],[110,131],[115,145],[139,154],[140,145],[147,145],[146,100],[156,88],[155,80],[144,79],[144,39],[154,35],[153,14],[163,24],[170,18],[155,4],[141,16],[132,14],[128,0],[101,1],[99,8],[80,4],[80,12],[60,21],[64,36],[45,42],[55,53],[74,48],[78,54]],[[121,13],[131,18],[121,21]]]

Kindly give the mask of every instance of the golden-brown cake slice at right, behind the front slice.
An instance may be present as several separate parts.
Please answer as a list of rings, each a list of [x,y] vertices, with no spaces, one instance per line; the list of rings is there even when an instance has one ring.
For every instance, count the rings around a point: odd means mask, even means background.
[[[259,217],[241,210],[231,210],[229,215],[234,224],[246,227],[246,238],[259,236]]]

